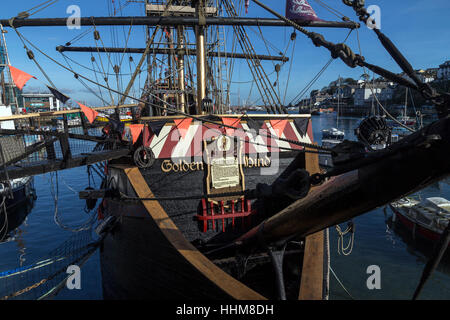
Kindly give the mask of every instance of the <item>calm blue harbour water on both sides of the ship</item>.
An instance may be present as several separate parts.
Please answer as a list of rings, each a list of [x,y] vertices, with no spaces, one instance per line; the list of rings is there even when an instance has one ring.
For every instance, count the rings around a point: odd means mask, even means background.
[[[340,119],[347,139],[354,139],[355,118]],[[320,141],[322,128],[336,126],[334,114],[314,116],[314,136]],[[59,173],[59,212],[63,223],[77,225],[86,221],[84,202],[78,191],[87,187],[86,168],[76,168]],[[97,187],[99,181],[96,181]],[[60,229],[53,220],[54,202],[50,192],[50,176],[35,177],[37,200],[13,240],[0,243],[0,271],[33,263],[63,241],[71,232]],[[421,192],[422,196],[450,198],[450,186],[444,182]],[[410,299],[419,282],[431,246],[413,243],[408,234],[389,223],[390,209],[376,209],[356,219],[355,241],[349,256],[337,253],[337,233],[330,229],[331,267],[355,299]],[[346,224],[342,224],[345,229]],[[347,238],[345,239],[347,241]],[[450,299],[450,259],[447,257],[425,286],[421,298]],[[381,289],[366,287],[370,265],[381,269]],[[350,299],[341,285],[330,275],[331,299]],[[82,268],[82,289],[64,289],[58,299],[102,299],[100,262],[98,252]]]

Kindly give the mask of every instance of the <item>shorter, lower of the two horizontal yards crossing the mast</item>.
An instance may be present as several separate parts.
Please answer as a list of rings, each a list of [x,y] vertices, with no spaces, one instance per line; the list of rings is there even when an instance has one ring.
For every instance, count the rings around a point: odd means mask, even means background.
[[[152,49],[152,53],[154,54],[169,54],[170,51],[175,51],[177,54],[184,55],[197,55],[197,50],[186,50],[186,49],[168,49],[168,48],[155,48]],[[95,48],[95,47],[71,47],[71,46],[58,46],[56,47],[56,51],[58,52],[102,52],[102,53],[144,53],[145,48]],[[208,57],[218,57],[219,52],[208,51],[206,52]],[[245,53],[231,53],[231,52],[220,52],[221,58],[233,58],[233,59],[249,59],[249,55]],[[271,56],[258,54],[256,56],[252,56],[253,59],[257,60],[273,60],[273,61],[281,61],[287,62],[289,61],[288,57],[282,56]]]

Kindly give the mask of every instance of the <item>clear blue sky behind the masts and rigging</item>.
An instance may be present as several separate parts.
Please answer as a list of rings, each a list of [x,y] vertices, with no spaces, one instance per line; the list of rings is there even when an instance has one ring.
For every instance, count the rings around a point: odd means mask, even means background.
[[[17,15],[18,12],[27,10],[39,3],[42,0],[27,0],[16,1],[14,5],[3,6],[1,11],[1,18],[7,19]],[[110,15],[112,0],[60,0],[54,6],[47,8],[37,13],[33,18],[42,17],[67,17],[67,7],[73,4],[80,6],[81,15],[83,17],[89,16],[108,16]],[[114,3],[124,4],[125,0],[115,0]],[[235,0],[235,2],[238,2]],[[284,13],[285,2],[274,0],[262,0],[265,4],[272,7],[279,13]],[[337,17],[324,9],[318,1],[309,1],[312,7],[316,10],[319,17],[324,20],[336,20]],[[322,2],[330,5],[334,9],[342,12],[346,16],[350,17],[353,21],[357,21],[353,10],[338,0],[322,0]],[[388,35],[391,40],[398,46],[403,54],[409,59],[414,68],[430,68],[437,67],[439,64],[450,59],[450,27],[448,25],[448,16],[450,14],[450,1],[448,0],[371,0],[366,1],[366,6],[378,5],[381,9],[381,30]],[[129,4],[121,13],[123,15],[142,15],[143,6],[141,4]],[[255,3],[250,3],[249,13],[247,17],[272,17],[262,8],[259,8]],[[89,27],[82,27],[81,30],[68,30],[65,27],[40,27],[40,28],[20,28],[19,31],[24,34],[29,40],[34,42],[39,48],[50,54],[52,57],[65,64],[63,57],[56,52],[55,47],[57,45],[65,44],[67,41],[73,39],[80,33],[87,30]],[[102,39],[105,42],[105,46],[113,45],[113,38],[111,36],[110,27],[98,28]],[[23,45],[18,40],[17,35],[10,29],[6,34],[6,41],[10,53],[11,64],[19,69],[22,69],[32,75],[35,75],[39,79],[45,81],[45,77],[41,74],[39,69],[33,62],[28,60]],[[120,27],[115,29],[121,36],[122,43],[125,36],[128,33],[127,27]],[[252,31],[253,30],[253,31]],[[266,46],[261,38],[256,33],[257,28],[253,28],[248,31],[250,38],[256,48],[256,51],[261,54],[268,54]],[[327,40],[333,42],[341,42],[347,35],[348,31],[345,29],[323,29],[323,28],[311,28],[310,30],[322,33]],[[264,37],[270,45],[284,51],[289,44],[289,37],[292,28],[263,28]],[[359,36],[361,39],[362,53],[366,58],[366,61],[380,65],[393,72],[400,72],[401,70],[389,54],[379,43],[373,31],[367,29],[365,26],[359,30]],[[134,27],[132,29],[132,36],[129,40],[129,47],[143,47],[144,46],[143,27]],[[356,32],[353,32],[350,36],[347,44],[349,44],[355,52],[358,52],[358,45],[356,41]],[[81,39],[74,45],[86,45],[95,46],[95,42],[92,37],[92,32]],[[291,44],[292,45],[292,44]],[[280,73],[280,91],[282,99],[285,98],[286,104],[294,98],[299,91],[301,91],[305,85],[314,77],[314,75],[325,65],[329,60],[330,54],[324,48],[316,48],[309,39],[297,32],[297,40],[295,44],[294,55],[291,56],[292,46],[288,48],[288,57],[293,58],[291,75],[288,81],[288,72],[290,64],[287,63],[282,67]],[[271,54],[276,54],[276,51],[271,50]],[[80,84],[73,76],[61,69],[60,67],[51,63],[47,58],[41,56],[35,52],[37,60],[42,64],[55,85],[63,92],[73,97],[74,99],[86,101],[91,105],[100,105],[101,102],[92,95],[82,84]],[[90,54],[86,53],[68,53],[71,59],[79,62],[82,65],[91,67]],[[139,60],[139,55],[133,55],[135,61]],[[108,67],[108,62],[105,56],[103,56],[103,63],[105,68]],[[119,59],[118,56],[112,58],[112,64],[115,64]],[[122,72],[130,72],[128,65],[128,58],[126,63],[123,64]],[[99,61],[99,60],[97,60]],[[91,71],[83,69],[82,67],[73,65],[74,69],[86,75],[91,79],[95,79],[94,74]],[[274,66],[272,62],[264,62],[268,74],[271,74],[271,81],[275,82],[276,77],[273,73]],[[109,72],[112,73],[112,67],[109,66]],[[359,78],[363,73],[360,68],[350,69],[344,63],[339,60],[333,61],[330,67],[325,71],[322,77],[315,83],[312,89],[320,89],[326,86],[330,81],[335,80],[338,75],[342,77]],[[246,66],[244,60],[238,61],[233,71],[233,81],[245,82],[251,80],[251,74]],[[112,83],[115,80],[110,79]],[[126,86],[127,79],[124,79],[123,86]],[[142,76],[140,79],[141,85],[145,81]],[[284,97],[284,90],[286,83],[289,83],[286,97]],[[139,84],[139,83],[138,83]],[[27,90],[36,90],[42,87],[40,82],[36,80],[30,80],[27,85]],[[97,90],[95,87],[93,89]],[[136,88],[137,89],[137,88]],[[258,95],[255,88],[252,88],[250,84],[237,84],[232,87],[233,102],[237,102],[238,93],[241,97],[241,102],[250,98],[250,101],[258,101]],[[132,91],[132,94],[134,92]],[[138,92],[136,92],[138,95]],[[104,97],[107,97],[103,92]],[[116,98],[116,97],[115,97]],[[109,99],[106,99],[109,100]]]

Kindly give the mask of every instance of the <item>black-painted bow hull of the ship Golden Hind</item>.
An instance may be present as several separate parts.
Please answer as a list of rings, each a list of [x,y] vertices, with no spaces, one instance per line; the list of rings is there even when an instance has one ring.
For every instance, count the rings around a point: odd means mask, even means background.
[[[280,159],[280,169],[275,175],[260,175],[261,168],[245,169],[246,186],[254,188],[257,183],[271,183],[291,161],[292,158]],[[154,167],[140,173],[150,189],[154,190],[155,197],[202,193],[203,172],[167,174],[161,172],[159,163]],[[109,177],[109,181],[122,193],[137,196],[122,169],[110,168]],[[210,222],[208,231],[203,232],[202,224],[195,219],[199,202],[199,199],[159,201],[167,213],[167,221],[161,222],[155,220],[152,212],[140,202],[125,204],[104,200],[105,216],[113,215],[119,221],[101,248],[105,299],[277,298],[276,281],[267,253],[252,256],[244,266],[245,270],[241,270],[239,257],[220,257],[209,261],[203,256],[201,251],[207,250],[208,245],[214,247],[232,240],[243,230],[242,226],[249,227],[252,222],[239,219],[233,227],[231,219],[225,219],[227,232],[224,233],[222,221],[216,220],[214,230]],[[155,205],[155,201],[150,205]],[[158,208],[155,210],[158,211]],[[257,222],[257,217],[253,219]],[[161,223],[166,227],[169,225],[169,234]],[[190,254],[204,258],[186,257]],[[301,246],[287,250],[285,279],[291,279],[286,281],[286,286],[288,295],[294,299],[298,297],[302,260]],[[214,270],[209,274],[205,268]]]

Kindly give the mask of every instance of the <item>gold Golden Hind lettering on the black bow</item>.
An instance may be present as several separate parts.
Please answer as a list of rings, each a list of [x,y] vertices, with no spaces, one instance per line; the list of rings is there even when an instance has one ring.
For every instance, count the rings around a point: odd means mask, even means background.
[[[245,156],[243,159],[244,168],[267,168],[272,165],[272,161],[268,156],[264,158],[251,158]],[[189,172],[189,171],[203,171],[203,162],[188,162],[186,160],[178,160],[173,162],[172,160],[164,160],[161,163],[161,171],[165,173],[169,172]]]

